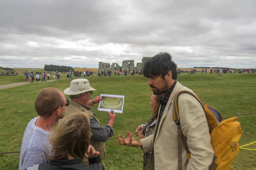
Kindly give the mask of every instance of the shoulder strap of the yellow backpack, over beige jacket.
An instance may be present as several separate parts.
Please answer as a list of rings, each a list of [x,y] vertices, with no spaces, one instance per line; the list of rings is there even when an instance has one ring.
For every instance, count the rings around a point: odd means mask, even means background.
[[[202,102],[191,91],[181,90],[181,91],[178,91],[174,95],[174,100],[173,100],[173,120],[174,120],[174,122],[175,122],[175,124],[177,125],[177,128],[178,128],[178,170],[182,170],[182,143],[183,143],[183,145],[184,145],[184,147],[186,149],[188,159],[190,158],[190,151],[189,151],[188,144],[187,144],[187,138],[182,133],[181,126],[180,126],[179,106],[178,106],[178,95],[180,93],[189,93],[189,94],[191,94],[192,96],[194,96],[198,100],[198,102],[201,104],[201,106],[204,109],[204,105],[202,104]]]

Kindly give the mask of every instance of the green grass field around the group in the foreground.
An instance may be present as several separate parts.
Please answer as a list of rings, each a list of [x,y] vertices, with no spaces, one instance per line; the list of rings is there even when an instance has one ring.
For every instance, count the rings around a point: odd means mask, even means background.
[[[23,75],[23,74],[22,74]],[[82,77],[81,77],[82,78]],[[35,83],[0,90],[0,152],[20,151],[24,130],[28,122],[37,116],[34,101],[40,90],[55,87],[64,90],[70,86],[71,79],[63,79],[48,83]],[[152,91],[148,79],[144,76],[111,76],[87,77],[90,85],[97,89],[91,95],[94,98],[100,94],[124,95],[123,113],[116,113],[114,135],[126,135],[126,130],[134,133],[138,125],[147,122],[151,116],[149,105]],[[0,77],[1,80],[1,77]],[[177,79],[184,86],[192,89],[202,102],[217,108],[224,118],[256,112],[256,74],[195,74],[178,75]],[[68,95],[66,98],[69,99]],[[98,106],[92,108],[101,126],[108,122],[107,112],[98,111]],[[245,137],[239,144],[244,145],[256,141],[256,114],[240,116],[239,122]],[[135,136],[135,139],[137,137]],[[102,163],[109,170],[142,169],[142,152],[140,148],[120,146],[118,139],[108,140],[106,156]],[[170,143],[171,144],[171,143]],[[256,149],[256,144],[247,148]],[[233,161],[231,170],[256,169],[256,151],[240,149]],[[19,153],[0,154],[0,169],[18,169]]]

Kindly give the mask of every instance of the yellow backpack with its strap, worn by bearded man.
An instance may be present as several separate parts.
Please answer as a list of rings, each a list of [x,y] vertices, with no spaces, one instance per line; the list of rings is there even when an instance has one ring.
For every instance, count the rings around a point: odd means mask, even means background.
[[[205,117],[211,136],[211,145],[214,150],[214,157],[212,164],[209,166],[209,170],[228,170],[239,151],[238,141],[242,135],[242,129],[240,123],[237,122],[238,117],[231,117],[223,121],[222,115],[217,109],[202,103],[194,93],[187,90],[177,92],[174,96],[173,103],[173,120],[178,127],[178,170],[182,170],[182,142],[185,146],[188,160],[190,158],[187,139],[183,135],[180,127],[177,100],[178,95],[184,92],[194,96],[201,104],[205,112]]]

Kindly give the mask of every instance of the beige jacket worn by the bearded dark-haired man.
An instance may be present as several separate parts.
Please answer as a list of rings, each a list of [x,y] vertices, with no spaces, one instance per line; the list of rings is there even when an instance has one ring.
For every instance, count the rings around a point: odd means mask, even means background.
[[[178,169],[178,130],[173,120],[172,109],[173,97],[180,90],[191,91],[177,82],[164,110],[157,133],[140,139],[143,153],[152,150],[146,170]],[[187,144],[191,152],[191,158],[188,161],[185,147],[182,145],[182,169],[208,170],[214,152],[210,144],[211,138],[203,108],[188,93],[178,96],[178,106],[181,129],[187,137]],[[158,122],[159,119],[157,124]]]

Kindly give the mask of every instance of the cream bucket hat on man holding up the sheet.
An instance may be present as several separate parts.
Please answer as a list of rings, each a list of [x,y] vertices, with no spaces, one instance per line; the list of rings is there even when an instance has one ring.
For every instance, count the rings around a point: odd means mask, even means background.
[[[70,87],[66,88],[63,93],[67,95],[76,95],[92,90],[95,89],[90,86],[89,80],[85,78],[78,78],[72,80],[70,83]]]

